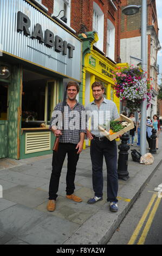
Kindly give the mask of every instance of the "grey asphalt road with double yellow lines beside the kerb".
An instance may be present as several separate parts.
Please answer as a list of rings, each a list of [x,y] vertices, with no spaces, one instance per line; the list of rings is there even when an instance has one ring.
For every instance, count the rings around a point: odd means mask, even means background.
[[[161,198],[162,164],[107,245],[162,245]]]

